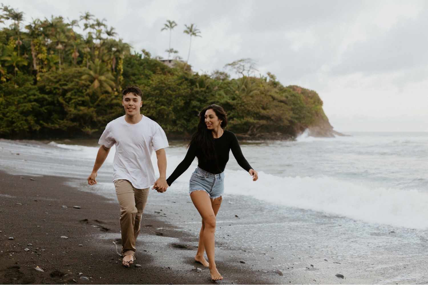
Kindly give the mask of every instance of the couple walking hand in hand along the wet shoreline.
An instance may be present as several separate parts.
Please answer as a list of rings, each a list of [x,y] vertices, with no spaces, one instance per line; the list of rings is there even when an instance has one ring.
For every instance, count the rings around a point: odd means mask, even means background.
[[[107,124],[98,142],[101,147],[94,168],[88,177],[89,185],[97,184],[95,178],[98,170],[110,148],[115,145],[113,180],[121,211],[122,264],[129,267],[135,259],[135,241],[140,232],[141,217],[150,186],[153,185],[152,189],[163,193],[197,157],[198,167],[189,181],[190,198],[202,217],[195,261],[209,267],[212,280],[223,279],[214,261],[214,232],[224,192],[224,169],[229,161],[230,150],[238,164],[250,173],[253,181],[258,179],[257,171],[244,158],[235,134],[224,129],[227,125],[226,113],[221,106],[215,104],[199,112],[197,131],[190,140],[187,154],[166,179],[165,148],[169,145],[165,132],[158,123],[140,114],[143,106],[140,88],[128,86],[122,94],[125,115]],[[152,150],[156,152],[159,168],[159,178],[156,181],[151,161]]]

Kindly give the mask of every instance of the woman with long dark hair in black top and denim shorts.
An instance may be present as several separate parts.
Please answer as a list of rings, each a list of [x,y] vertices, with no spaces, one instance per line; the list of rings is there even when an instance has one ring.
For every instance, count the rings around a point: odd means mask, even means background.
[[[215,216],[224,192],[224,168],[229,160],[229,151],[232,150],[238,164],[253,176],[253,181],[258,179],[258,174],[242,155],[235,134],[224,130],[227,118],[222,107],[210,105],[199,113],[199,117],[198,129],[190,140],[186,156],[166,182],[171,185],[187,170],[195,156],[198,158],[198,167],[189,182],[190,198],[202,217],[195,260],[209,267],[212,280],[220,280],[223,277],[214,261]],[[204,258],[204,251],[208,262]]]

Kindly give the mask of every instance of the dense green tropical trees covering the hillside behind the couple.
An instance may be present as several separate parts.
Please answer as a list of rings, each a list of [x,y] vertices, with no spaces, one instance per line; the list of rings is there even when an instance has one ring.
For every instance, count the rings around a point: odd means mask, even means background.
[[[229,130],[249,137],[293,137],[324,114],[316,92],[285,87],[270,73],[253,77],[239,70],[242,77],[229,79],[221,71],[194,73],[182,62],[169,68],[145,50],[131,54],[128,44],[116,40],[113,28],[89,13],[80,22],[36,19],[24,30],[21,12],[5,6],[2,11],[3,138],[98,136],[110,120],[124,115],[120,90],[126,85],[143,90],[142,113],[168,135],[190,135],[198,112],[212,103],[228,113]],[[75,31],[79,24],[86,34]]]

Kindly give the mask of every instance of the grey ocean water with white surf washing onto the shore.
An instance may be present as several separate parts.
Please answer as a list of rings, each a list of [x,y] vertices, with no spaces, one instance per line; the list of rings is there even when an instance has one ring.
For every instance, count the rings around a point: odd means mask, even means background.
[[[330,282],[325,275],[340,269],[348,275],[352,272],[354,279],[348,282],[354,284],[425,284],[428,133],[346,134],[313,138],[303,133],[295,141],[241,142],[259,180],[253,182],[231,153],[224,201],[256,214],[247,219],[251,225],[233,233],[228,246],[245,246],[253,252],[277,248],[276,262],[266,270],[309,274],[321,283]],[[167,175],[184,158],[186,145],[170,142]],[[68,184],[115,201],[114,147],[98,173],[98,185],[86,183],[97,150],[94,140],[0,140],[1,170],[65,176]],[[155,153],[152,160],[156,168]],[[196,165],[195,159],[166,193],[187,195]],[[181,226],[190,229],[194,224]],[[218,235],[222,230],[217,229]]]

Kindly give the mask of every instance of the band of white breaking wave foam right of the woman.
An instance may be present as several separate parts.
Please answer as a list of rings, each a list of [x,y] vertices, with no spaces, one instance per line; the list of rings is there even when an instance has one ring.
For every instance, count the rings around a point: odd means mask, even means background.
[[[259,177],[253,182],[244,171],[226,170],[226,193],[370,223],[428,229],[426,192],[370,188],[332,177],[278,177],[263,172]]]

